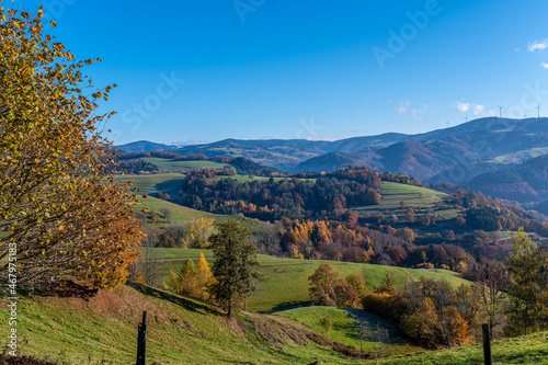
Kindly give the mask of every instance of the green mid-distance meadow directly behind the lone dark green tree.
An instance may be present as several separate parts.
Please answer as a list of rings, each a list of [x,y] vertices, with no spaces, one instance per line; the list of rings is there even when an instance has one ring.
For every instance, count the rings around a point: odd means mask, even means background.
[[[175,251],[176,253],[173,253],[170,252],[170,250],[178,251]],[[197,259],[199,256],[199,250],[193,250],[192,254],[186,254],[185,251],[186,250],[180,249],[165,249],[163,251],[158,251],[155,256],[159,259]],[[204,250],[204,255],[206,258],[210,256],[210,253],[208,252],[209,251]],[[248,308],[265,312],[307,304],[310,300],[308,294],[308,276],[310,276],[321,263],[331,264],[341,278],[345,277],[350,273],[363,273],[369,287],[378,286],[383,277],[385,277],[388,272],[393,273],[397,280],[396,286],[398,288],[404,285],[406,282],[419,281],[421,276],[432,277],[435,280],[445,278],[454,285],[466,283],[466,281],[456,277],[454,272],[445,270],[418,270],[359,264],[353,262],[277,259],[267,255],[259,255],[259,262],[261,263],[259,271],[267,277],[267,281],[260,284],[260,290],[252,296],[248,304]],[[180,271],[183,263],[184,261],[171,261],[169,264],[163,265],[161,267],[163,280],[167,281],[167,276],[171,270]]]

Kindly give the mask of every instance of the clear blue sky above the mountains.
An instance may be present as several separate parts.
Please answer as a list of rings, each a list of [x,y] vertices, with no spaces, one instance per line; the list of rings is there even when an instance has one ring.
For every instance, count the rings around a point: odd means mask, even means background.
[[[117,83],[115,144],[340,139],[548,114],[548,3],[15,1]],[[543,66],[545,65],[545,66]]]

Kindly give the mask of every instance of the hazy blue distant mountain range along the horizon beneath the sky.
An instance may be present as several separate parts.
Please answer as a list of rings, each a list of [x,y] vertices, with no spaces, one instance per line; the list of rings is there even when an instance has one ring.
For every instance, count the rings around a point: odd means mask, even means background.
[[[548,153],[548,118],[486,117],[418,135],[387,133],[335,141],[225,139],[181,148],[139,141],[119,148],[243,157],[289,172],[368,166],[424,182],[468,183],[476,175],[514,168]]]

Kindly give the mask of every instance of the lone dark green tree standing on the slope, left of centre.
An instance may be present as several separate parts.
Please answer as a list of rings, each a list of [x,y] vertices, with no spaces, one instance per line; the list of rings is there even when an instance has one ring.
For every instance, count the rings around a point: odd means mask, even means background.
[[[251,232],[238,220],[216,223],[218,233],[209,237],[214,252],[212,272],[213,298],[231,317],[240,309],[248,297],[256,290],[256,282],[263,276],[255,270],[259,266],[256,248],[249,241]]]

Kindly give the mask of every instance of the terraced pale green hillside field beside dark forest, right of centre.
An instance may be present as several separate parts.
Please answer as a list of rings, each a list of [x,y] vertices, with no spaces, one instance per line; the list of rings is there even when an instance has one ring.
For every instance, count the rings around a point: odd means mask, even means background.
[[[429,209],[434,210],[436,214],[442,214],[445,219],[452,219],[458,216],[459,212],[457,209],[439,209],[437,205],[446,204],[448,195],[435,190],[404,185],[389,181],[383,181],[381,183],[381,202],[377,205],[354,207],[363,216],[378,215],[378,214],[396,214],[398,219],[403,220],[406,217],[406,210],[408,207],[412,207],[415,210],[416,216],[423,216]],[[400,206],[400,202],[404,203],[404,206]],[[416,212],[420,208],[422,212]]]

